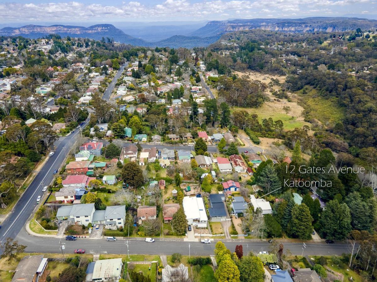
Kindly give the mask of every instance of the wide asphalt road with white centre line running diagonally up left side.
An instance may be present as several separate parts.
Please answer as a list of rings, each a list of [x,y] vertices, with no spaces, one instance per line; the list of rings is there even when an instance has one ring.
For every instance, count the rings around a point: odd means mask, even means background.
[[[86,126],[87,121],[85,121],[83,127]],[[80,135],[80,130],[78,129],[76,129],[74,133],[59,138],[59,140],[55,142],[55,155],[48,157],[49,159],[40,169],[28,188],[26,188],[25,193],[23,193],[14,206],[13,211],[8,215],[6,220],[2,222],[0,241],[5,241],[8,237],[15,238],[25,225],[29,216],[33,213],[35,206],[42,204],[42,201],[37,204],[37,197],[44,194],[42,191],[43,187],[48,186],[52,179],[54,179],[54,170],[59,170],[61,164],[63,164],[70,148],[77,139],[77,135]]]

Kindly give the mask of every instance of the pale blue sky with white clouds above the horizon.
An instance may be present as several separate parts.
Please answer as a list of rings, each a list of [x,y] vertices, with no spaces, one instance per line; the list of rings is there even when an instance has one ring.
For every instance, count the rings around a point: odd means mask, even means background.
[[[0,0],[0,24],[201,21],[377,14],[377,0]]]

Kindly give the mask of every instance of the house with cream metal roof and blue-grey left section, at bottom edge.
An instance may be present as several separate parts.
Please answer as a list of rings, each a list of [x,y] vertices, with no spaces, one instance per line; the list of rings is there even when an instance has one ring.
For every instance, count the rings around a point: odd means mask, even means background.
[[[122,258],[100,259],[88,264],[86,268],[86,282],[91,281],[115,281],[123,277]]]

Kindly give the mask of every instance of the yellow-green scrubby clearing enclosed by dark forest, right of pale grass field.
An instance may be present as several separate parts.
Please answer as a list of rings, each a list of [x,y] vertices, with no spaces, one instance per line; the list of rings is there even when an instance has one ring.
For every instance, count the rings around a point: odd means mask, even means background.
[[[337,98],[325,99],[317,94],[315,89],[307,94],[297,92],[302,98],[305,109],[310,110],[309,116],[319,120],[323,124],[336,123],[343,120],[345,109],[339,107]]]

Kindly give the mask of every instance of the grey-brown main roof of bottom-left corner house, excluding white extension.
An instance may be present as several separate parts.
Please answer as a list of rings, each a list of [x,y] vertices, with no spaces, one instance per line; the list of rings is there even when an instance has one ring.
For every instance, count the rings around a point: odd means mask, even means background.
[[[12,282],[32,282],[37,274],[43,255],[25,256],[17,265]]]

